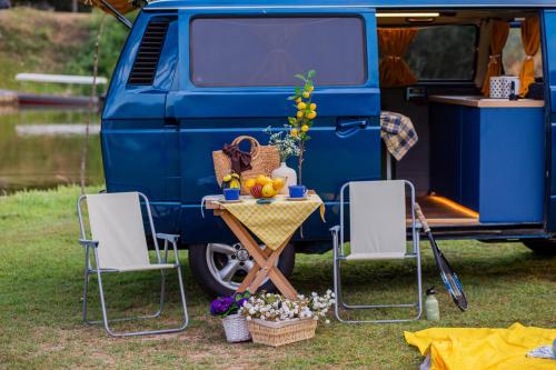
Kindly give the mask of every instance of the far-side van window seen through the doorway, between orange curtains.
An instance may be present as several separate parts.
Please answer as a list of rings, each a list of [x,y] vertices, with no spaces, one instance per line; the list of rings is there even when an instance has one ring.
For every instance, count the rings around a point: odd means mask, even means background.
[[[419,81],[470,81],[475,77],[475,26],[433,26],[419,29],[406,61]]]

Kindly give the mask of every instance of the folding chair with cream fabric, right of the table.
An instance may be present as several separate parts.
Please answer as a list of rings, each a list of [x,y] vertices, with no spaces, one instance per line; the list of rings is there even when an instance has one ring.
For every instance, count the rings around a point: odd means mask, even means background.
[[[410,189],[411,239],[408,252],[406,244],[406,186]],[[345,191],[349,190],[350,252],[346,254]],[[356,181],[347,182],[340,190],[340,224],[330,229],[334,242],[334,291],[335,314],[341,322],[403,322],[418,320],[423,312],[423,287],[420,269],[419,232],[415,217],[415,188],[409,181]],[[359,260],[416,259],[417,302],[401,304],[347,304],[341,296],[341,262]],[[417,308],[417,316],[408,319],[344,320],[339,307],[346,310]]]

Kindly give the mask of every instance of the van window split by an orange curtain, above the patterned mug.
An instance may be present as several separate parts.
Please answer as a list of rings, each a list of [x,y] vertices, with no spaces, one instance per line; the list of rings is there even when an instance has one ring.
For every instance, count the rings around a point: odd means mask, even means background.
[[[535,60],[535,77],[543,77],[543,57],[540,49],[533,57]],[[502,50],[502,63],[504,73],[519,76],[523,61],[525,60],[525,50],[522,42],[522,29],[513,27],[509,29],[508,40]]]

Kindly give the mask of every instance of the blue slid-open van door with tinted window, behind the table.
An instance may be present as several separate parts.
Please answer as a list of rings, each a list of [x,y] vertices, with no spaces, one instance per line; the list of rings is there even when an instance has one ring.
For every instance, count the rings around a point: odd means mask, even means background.
[[[239,134],[268,142],[296,112],[287,97],[296,73],[316,70],[318,117],[304,162],[304,182],[327,204],[328,224],[309,221],[305,238],[328,239],[337,197],[349,180],[379,179],[380,90],[375,10],[296,6],[181,9],[179,88],[167,119],[179,127],[182,221],[205,241],[215,227],[198,218],[200,199],[219,192],[214,150]],[[296,168],[296,159],[290,160]],[[217,221],[215,221],[217,222]],[[197,241],[197,240],[196,240]],[[218,240],[212,240],[218,241]]]

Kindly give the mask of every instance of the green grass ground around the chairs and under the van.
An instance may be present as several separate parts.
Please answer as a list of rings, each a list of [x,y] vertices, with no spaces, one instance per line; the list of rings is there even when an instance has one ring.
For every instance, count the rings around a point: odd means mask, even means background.
[[[97,189],[90,189],[96,191]],[[209,298],[187,269],[191,323],[179,334],[112,339],[100,327],[80,321],[83,254],[76,242],[77,188],[30,191],[0,197],[0,368],[366,368],[416,369],[420,357],[404,341],[405,330],[431,327],[420,320],[403,324],[319,324],[317,337],[270,349],[252,343],[227,344],[218,319],[208,314]],[[429,248],[424,243],[424,283],[438,287],[446,327],[554,327],[556,260],[538,258],[519,243],[441,242],[463,280],[470,309],[461,313],[440,288]],[[299,256],[291,277],[301,292],[330,287],[330,256]],[[411,270],[397,262],[357,263],[346,270],[346,290],[354,300],[400,299],[409,294]],[[92,284],[91,314],[99,308]],[[156,307],[156,273],[107,281],[112,314]],[[170,308],[178,312],[177,284],[170,284]],[[378,312],[384,317],[384,312]]]

